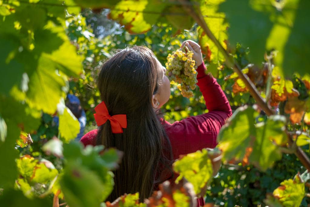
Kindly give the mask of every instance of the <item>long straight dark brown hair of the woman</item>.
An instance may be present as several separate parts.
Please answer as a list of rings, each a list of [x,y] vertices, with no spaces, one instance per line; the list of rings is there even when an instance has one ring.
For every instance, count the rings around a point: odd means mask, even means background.
[[[112,202],[124,193],[140,193],[140,201],[151,196],[164,167],[171,171],[170,141],[152,107],[159,74],[156,57],[147,47],[127,47],[106,61],[98,77],[101,100],[111,116],[127,115],[124,133],[113,134],[110,122],[99,127],[97,145],[124,152],[114,172]]]

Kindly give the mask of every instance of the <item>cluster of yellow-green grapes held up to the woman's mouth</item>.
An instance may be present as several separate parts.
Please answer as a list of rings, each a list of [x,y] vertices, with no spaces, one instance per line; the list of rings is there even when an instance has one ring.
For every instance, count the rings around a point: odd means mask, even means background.
[[[197,83],[197,66],[193,60],[193,52],[176,50],[167,56],[167,76],[171,84],[176,84],[184,97],[193,97],[193,91]]]

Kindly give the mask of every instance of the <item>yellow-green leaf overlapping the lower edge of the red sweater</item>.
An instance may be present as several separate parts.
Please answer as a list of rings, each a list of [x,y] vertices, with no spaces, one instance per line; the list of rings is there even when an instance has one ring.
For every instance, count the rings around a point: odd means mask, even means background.
[[[212,162],[206,149],[181,157],[173,164],[173,169],[179,173],[175,183],[179,183],[184,177],[193,184],[196,194],[200,194],[201,188],[204,188],[213,176]]]

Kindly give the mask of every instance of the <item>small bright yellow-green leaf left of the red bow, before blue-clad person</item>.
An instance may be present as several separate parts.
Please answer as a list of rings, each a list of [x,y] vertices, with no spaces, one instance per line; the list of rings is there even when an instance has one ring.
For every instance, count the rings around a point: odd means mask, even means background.
[[[59,115],[59,133],[64,142],[76,138],[80,132],[80,123],[68,107],[65,107],[63,114]]]

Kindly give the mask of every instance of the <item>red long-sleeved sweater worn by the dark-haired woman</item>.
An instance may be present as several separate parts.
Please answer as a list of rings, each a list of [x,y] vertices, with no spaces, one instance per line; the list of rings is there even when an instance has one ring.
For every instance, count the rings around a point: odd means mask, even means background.
[[[202,148],[214,148],[217,145],[216,137],[220,128],[225,124],[226,119],[232,115],[229,102],[221,87],[216,79],[211,75],[206,75],[205,71],[204,64],[197,68],[197,85],[206,101],[209,112],[191,116],[173,124],[162,120],[171,143],[174,159],[178,159],[179,155],[196,152]],[[97,129],[92,130],[82,137],[81,142],[85,146],[95,146],[96,135]],[[162,175],[161,178],[165,176]],[[201,202],[203,199],[198,200],[198,205],[203,205]]]

